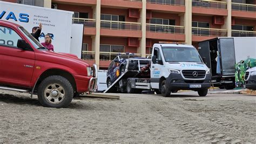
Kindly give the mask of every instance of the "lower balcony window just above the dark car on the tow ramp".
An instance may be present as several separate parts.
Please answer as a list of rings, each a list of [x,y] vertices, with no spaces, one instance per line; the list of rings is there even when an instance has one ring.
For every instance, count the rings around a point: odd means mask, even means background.
[[[118,53],[124,52],[123,45],[105,45],[101,44],[99,46],[99,59],[100,60],[113,60]]]

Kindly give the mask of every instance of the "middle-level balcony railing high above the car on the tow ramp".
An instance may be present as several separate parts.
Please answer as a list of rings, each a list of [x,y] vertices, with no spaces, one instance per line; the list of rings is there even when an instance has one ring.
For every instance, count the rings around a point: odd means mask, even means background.
[[[119,22],[112,20],[100,20],[100,28],[111,30],[134,30],[141,31],[142,24],[134,22]]]

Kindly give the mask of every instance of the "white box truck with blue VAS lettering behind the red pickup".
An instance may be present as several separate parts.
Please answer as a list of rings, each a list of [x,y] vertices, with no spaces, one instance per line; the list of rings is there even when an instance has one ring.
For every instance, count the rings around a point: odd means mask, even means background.
[[[44,35],[49,34],[55,52],[81,57],[84,27],[72,24],[73,12],[9,2],[0,2],[0,8],[1,20],[17,23],[31,33],[34,26],[42,23],[41,43],[44,42]]]

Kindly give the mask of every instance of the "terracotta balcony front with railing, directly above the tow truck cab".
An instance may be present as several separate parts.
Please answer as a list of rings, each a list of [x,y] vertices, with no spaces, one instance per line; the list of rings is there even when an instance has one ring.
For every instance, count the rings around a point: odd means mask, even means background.
[[[146,38],[184,41],[184,31],[184,26],[146,24]]]

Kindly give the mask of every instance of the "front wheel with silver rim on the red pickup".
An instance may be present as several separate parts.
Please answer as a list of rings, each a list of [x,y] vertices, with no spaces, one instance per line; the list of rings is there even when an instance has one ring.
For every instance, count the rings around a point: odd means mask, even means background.
[[[62,76],[49,76],[38,87],[38,100],[44,107],[67,107],[73,99],[73,87]]]

